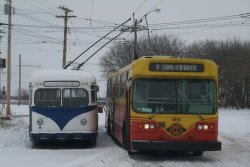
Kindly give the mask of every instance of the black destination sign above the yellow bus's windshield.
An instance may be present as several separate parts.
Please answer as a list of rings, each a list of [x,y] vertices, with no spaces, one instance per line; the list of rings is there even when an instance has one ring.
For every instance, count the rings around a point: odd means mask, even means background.
[[[203,64],[179,64],[179,63],[151,63],[150,71],[161,72],[203,72]]]

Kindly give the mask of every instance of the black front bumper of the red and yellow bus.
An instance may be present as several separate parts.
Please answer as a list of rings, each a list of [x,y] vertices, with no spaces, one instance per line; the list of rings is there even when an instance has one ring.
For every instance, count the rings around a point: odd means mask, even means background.
[[[220,151],[221,142],[167,142],[133,140],[133,150],[141,151]]]

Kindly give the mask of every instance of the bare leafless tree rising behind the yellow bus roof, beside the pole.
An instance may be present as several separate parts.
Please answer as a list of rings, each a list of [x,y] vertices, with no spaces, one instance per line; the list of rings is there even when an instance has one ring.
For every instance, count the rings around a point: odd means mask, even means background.
[[[153,55],[180,55],[184,49],[184,42],[173,35],[152,36],[149,44],[147,37],[142,37],[138,40],[137,53],[141,56]],[[133,61],[134,42],[126,41],[121,44],[115,44],[101,58],[100,65],[102,71],[117,70],[124,67]]]

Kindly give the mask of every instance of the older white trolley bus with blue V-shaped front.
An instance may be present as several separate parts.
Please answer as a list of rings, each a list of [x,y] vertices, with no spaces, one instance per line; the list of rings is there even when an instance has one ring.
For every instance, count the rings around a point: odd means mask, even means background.
[[[89,140],[98,134],[93,75],[75,70],[41,70],[30,82],[30,139],[39,141]]]

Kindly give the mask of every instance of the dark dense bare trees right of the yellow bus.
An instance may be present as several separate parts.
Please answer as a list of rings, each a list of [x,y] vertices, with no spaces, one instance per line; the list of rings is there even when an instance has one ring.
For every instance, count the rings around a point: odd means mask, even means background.
[[[236,38],[200,41],[186,47],[186,56],[212,59],[218,64],[225,107],[250,107],[250,42]]]

